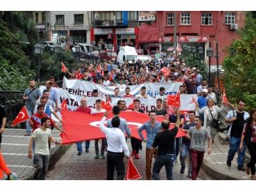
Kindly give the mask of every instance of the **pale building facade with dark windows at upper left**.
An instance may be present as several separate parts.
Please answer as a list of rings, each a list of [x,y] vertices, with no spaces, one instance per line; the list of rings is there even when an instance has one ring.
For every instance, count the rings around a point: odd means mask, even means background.
[[[36,29],[43,33],[42,39],[64,43],[71,49],[75,43],[90,44],[90,12],[34,12]]]

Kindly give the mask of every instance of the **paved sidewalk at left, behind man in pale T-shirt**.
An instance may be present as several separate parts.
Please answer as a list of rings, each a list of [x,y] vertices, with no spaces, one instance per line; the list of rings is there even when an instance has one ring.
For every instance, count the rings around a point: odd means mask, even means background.
[[[24,136],[26,129],[6,128],[2,135],[1,152],[9,169],[16,172],[19,179],[33,179],[36,169],[33,160],[28,159],[29,138]],[[59,131],[52,131],[53,138],[59,138]],[[67,151],[66,146],[51,143],[49,167],[54,165]]]

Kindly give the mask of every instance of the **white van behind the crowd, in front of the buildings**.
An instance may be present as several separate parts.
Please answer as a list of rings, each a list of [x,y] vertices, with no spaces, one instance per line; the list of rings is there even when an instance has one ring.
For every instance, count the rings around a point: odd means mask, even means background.
[[[122,66],[124,62],[135,61],[138,54],[136,49],[132,46],[120,46],[117,56],[117,62],[119,66]]]

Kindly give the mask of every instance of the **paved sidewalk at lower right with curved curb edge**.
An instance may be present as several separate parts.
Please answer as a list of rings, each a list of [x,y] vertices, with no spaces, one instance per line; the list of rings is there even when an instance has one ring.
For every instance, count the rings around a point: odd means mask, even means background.
[[[220,136],[221,135],[221,136]],[[237,154],[235,155],[231,167],[228,167],[227,152],[229,150],[229,142],[223,140],[223,134],[216,136],[213,144],[212,153],[204,156],[202,168],[205,169],[210,176],[219,180],[249,180],[250,176],[244,171],[237,170]]]

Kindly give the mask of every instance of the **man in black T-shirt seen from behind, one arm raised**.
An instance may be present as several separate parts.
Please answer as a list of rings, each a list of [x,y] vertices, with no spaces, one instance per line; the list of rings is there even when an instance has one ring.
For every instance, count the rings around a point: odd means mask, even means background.
[[[169,130],[170,121],[164,120],[161,123],[162,131],[157,133],[150,151],[150,159],[153,158],[155,149],[158,147],[157,157],[153,166],[153,179],[160,180],[159,173],[165,166],[168,180],[173,179],[173,165],[175,162],[175,137],[180,126],[180,112],[177,112],[175,128]]]

